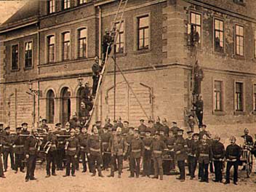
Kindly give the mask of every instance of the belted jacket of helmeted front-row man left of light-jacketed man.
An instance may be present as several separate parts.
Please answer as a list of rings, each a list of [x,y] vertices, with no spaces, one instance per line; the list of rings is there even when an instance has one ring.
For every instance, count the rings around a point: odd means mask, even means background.
[[[102,151],[102,143],[100,136],[97,135],[90,135],[88,138],[88,152],[91,156],[101,156]]]

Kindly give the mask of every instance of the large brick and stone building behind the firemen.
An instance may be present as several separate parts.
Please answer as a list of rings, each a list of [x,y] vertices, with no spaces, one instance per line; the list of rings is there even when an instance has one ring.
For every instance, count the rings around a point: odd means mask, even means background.
[[[111,28],[118,3],[40,1],[24,6],[2,25],[1,121],[12,126],[33,122],[28,80],[42,93],[39,105],[36,96],[36,117],[65,123],[73,112],[79,112],[83,86],[77,80],[81,76],[83,84],[92,85],[93,58],[101,58],[102,36],[105,28]],[[254,128],[255,5],[253,0],[128,1],[117,42],[117,64],[148,117],[165,117],[186,126],[184,110],[191,108],[194,65],[189,33],[194,25],[200,36],[197,60],[204,70],[204,123],[222,134]],[[34,11],[28,13],[28,6]],[[26,68],[26,42],[31,41],[32,67]],[[18,68],[12,69],[17,44]],[[113,63],[108,70],[93,117],[102,122],[114,116]],[[136,126],[147,117],[120,72],[116,73],[116,116]]]

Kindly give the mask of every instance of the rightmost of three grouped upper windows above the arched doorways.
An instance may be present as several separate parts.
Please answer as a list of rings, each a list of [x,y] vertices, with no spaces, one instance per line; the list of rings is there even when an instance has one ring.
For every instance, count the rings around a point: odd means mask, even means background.
[[[87,29],[78,29],[78,58],[86,57]]]

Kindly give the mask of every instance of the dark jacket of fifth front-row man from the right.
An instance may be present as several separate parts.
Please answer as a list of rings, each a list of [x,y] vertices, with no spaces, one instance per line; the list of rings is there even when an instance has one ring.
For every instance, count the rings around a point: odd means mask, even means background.
[[[174,151],[176,154],[177,161],[184,161],[186,159],[187,143],[183,137],[178,136],[178,138],[176,139],[175,145],[174,145]]]

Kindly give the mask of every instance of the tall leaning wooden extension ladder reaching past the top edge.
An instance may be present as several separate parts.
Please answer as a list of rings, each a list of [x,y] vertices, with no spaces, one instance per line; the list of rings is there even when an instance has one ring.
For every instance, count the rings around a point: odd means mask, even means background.
[[[123,15],[124,15],[124,11],[125,11],[127,2],[128,2],[128,0],[120,0],[120,3],[118,5],[118,9],[117,9],[117,12],[116,12],[116,15],[115,15],[115,19],[114,19],[112,27],[111,27],[111,32],[115,33],[114,42],[112,42],[109,46],[116,44],[116,40],[117,40],[117,37],[119,35],[119,31],[120,31],[120,28],[121,28],[121,25],[122,25]],[[119,25],[118,25],[118,28],[115,30],[117,22],[119,22]],[[101,70],[101,75],[100,75],[100,78],[99,78],[99,83],[98,83],[98,86],[97,86],[95,99],[93,101],[93,107],[92,107],[92,110],[90,111],[90,117],[87,120],[87,122],[85,123],[85,126],[88,125],[91,122],[91,119],[92,119],[92,116],[93,116],[93,113],[94,113],[94,109],[95,109],[96,103],[98,102],[99,94],[100,94],[101,89],[102,89],[101,85],[103,85],[103,83],[106,79],[105,77],[106,77],[106,74],[107,74],[108,66],[109,66],[110,62],[113,61],[113,60],[109,60],[109,58],[113,57],[114,46],[112,47],[110,53],[108,51],[109,51],[109,47],[107,49],[107,55],[106,55],[106,58],[105,58],[105,65],[103,66],[103,68]]]

